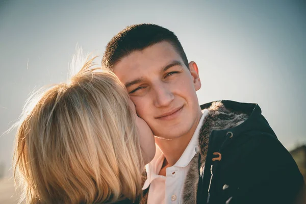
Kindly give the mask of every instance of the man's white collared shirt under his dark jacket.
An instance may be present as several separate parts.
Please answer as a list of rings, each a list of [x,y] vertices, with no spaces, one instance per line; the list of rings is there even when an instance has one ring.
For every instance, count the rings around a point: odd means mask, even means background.
[[[148,204],[182,203],[182,190],[190,168],[189,163],[198,151],[198,134],[207,114],[207,109],[202,111],[202,117],[188,146],[180,159],[173,166],[166,168],[166,176],[159,175],[165,156],[161,149],[156,146],[154,159],[145,166],[147,180],[142,189],[144,190],[150,186]]]

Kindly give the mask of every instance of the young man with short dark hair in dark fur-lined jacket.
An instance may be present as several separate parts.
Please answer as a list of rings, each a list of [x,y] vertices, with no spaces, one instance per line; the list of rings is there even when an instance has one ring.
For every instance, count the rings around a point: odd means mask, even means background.
[[[142,203],[292,203],[303,177],[257,104],[199,106],[197,64],[171,31],[137,24],[102,63],[125,84],[158,146]]]

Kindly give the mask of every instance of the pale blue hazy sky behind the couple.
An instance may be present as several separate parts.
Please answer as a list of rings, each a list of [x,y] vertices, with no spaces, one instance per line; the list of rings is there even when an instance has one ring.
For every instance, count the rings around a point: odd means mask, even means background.
[[[0,133],[33,89],[67,79],[77,44],[103,55],[118,31],[141,22],[179,37],[199,67],[200,104],[258,103],[286,148],[306,143],[306,6],[297,0],[0,0]],[[0,137],[6,170],[14,134]]]

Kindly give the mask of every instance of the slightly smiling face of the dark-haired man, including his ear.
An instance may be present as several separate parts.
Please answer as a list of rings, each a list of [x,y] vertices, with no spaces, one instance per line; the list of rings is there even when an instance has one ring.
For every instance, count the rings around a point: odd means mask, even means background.
[[[178,138],[197,126],[201,83],[197,65],[190,62],[189,68],[168,42],[132,52],[114,66],[137,114],[157,137]]]

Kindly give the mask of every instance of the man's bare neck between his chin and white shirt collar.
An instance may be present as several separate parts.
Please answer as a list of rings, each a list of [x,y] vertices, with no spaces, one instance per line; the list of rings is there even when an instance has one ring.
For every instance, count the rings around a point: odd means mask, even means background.
[[[188,133],[178,138],[172,140],[165,140],[158,137],[155,138],[156,144],[159,146],[165,156],[165,161],[163,163],[160,175],[165,175],[165,169],[167,167],[173,166],[177,161],[179,161],[196,130],[201,116],[202,113],[199,111],[198,117],[196,118]]]

